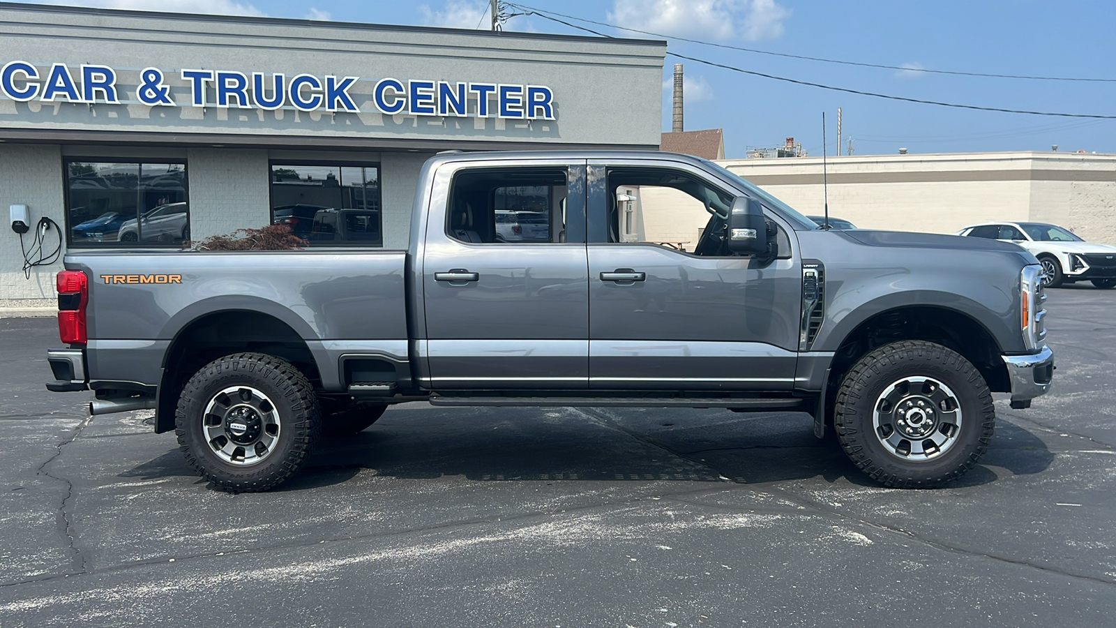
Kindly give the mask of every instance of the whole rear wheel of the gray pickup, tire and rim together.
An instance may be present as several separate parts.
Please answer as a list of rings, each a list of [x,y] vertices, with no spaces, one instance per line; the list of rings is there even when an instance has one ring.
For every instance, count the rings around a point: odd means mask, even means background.
[[[183,387],[174,419],[186,462],[230,493],[282,484],[321,430],[306,375],[262,353],[225,355],[202,367]]]

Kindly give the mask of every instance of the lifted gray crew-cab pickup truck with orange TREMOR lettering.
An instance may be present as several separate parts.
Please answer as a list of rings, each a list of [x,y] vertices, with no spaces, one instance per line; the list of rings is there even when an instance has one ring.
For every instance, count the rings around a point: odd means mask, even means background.
[[[653,189],[704,207],[693,250],[628,236]],[[532,230],[498,223],[523,210]],[[94,390],[93,415],[154,409],[155,431],[231,492],[272,488],[323,432],[416,400],[809,412],[876,482],[935,486],[988,448],[992,392],[1026,408],[1054,373],[1023,249],[825,230],[670,153],[436,155],[407,250],[65,266],[68,349],[48,352],[47,388]]]

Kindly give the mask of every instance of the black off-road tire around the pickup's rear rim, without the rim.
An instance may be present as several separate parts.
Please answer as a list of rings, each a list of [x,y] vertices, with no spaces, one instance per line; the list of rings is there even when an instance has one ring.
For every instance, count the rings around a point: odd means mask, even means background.
[[[251,387],[267,394],[280,430],[266,458],[250,466],[223,460],[203,427],[209,403],[230,387]],[[186,462],[214,487],[230,493],[269,491],[295,475],[321,431],[318,399],[306,375],[290,362],[262,353],[235,353],[201,368],[182,388],[174,432]]]

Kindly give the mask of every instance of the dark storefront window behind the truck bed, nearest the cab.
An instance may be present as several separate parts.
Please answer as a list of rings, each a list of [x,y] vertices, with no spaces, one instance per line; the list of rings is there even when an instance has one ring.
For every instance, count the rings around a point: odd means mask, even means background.
[[[383,246],[379,166],[272,163],[271,221],[310,246]]]

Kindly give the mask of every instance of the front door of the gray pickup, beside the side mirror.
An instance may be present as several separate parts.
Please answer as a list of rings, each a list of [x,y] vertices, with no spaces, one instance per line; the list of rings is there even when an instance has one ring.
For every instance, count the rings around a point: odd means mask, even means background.
[[[795,381],[801,260],[731,255],[723,220],[742,192],[683,162],[588,161],[589,386],[783,390]]]

